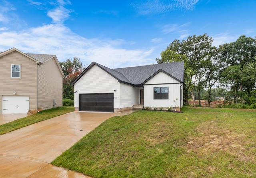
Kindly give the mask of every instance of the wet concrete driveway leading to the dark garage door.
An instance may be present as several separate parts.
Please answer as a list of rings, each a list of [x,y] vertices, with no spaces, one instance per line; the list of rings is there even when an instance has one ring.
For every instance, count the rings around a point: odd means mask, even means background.
[[[72,112],[0,135],[0,178],[88,178],[49,163],[115,115]]]

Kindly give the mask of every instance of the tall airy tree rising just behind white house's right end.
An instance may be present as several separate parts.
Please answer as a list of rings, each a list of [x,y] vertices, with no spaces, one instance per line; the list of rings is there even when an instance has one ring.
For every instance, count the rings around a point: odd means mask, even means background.
[[[184,102],[188,104],[188,91],[190,91],[194,106],[195,94],[198,93],[198,99],[200,102],[200,93],[204,88],[204,76],[205,67],[207,65],[207,59],[212,55],[213,39],[209,38],[207,34],[201,36],[190,36],[186,40],[174,40],[166,50],[171,50],[176,54],[185,55],[188,59],[186,65],[190,67],[190,82],[192,85],[188,85],[184,90]],[[162,56],[161,56],[162,57]],[[200,104],[200,103],[199,103]]]

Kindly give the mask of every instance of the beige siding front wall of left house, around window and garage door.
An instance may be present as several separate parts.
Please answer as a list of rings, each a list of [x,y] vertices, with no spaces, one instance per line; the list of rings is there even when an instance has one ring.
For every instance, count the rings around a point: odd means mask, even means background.
[[[20,65],[20,78],[11,78],[11,64]],[[30,109],[37,107],[37,64],[32,59],[13,51],[0,57],[0,114],[2,96],[29,96]]]

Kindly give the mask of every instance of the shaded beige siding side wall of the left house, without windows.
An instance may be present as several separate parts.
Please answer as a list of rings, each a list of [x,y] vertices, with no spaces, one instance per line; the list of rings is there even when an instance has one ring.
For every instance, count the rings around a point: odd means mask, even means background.
[[[62,74],[54,58],[39,65],[38,76],[38,108],[48,109],[62,106]]]

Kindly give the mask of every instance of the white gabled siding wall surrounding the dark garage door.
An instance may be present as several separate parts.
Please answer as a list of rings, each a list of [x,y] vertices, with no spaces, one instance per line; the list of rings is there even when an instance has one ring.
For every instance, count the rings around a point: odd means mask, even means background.
[[[97,65],[75,83],[74,91],[74,107],[79,107],[79,94],[114,93],[114,108],[120,108],[120,83]]]

